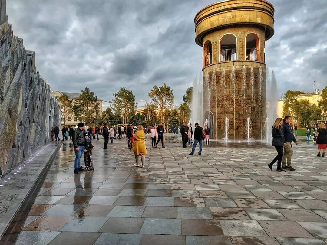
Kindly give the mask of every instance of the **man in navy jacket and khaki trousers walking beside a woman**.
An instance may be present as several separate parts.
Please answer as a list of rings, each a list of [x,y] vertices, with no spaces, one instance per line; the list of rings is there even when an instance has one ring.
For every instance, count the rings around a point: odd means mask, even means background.
[[[287,169],[290,171],[295,171],[295,169],[291,166],[291,159],[293,155],[293,147],[292,147],[292,141],[297,145],[298,142],[296,141],[292,128],[289,125],[292,122],[291,116],[285,116],[284,117],[284,123],[283,123],[283,134],[285,138],[285,147],[283,152],[283,160],[282,160],[282,169]],[[286,166],[287,163],[287,166]]]

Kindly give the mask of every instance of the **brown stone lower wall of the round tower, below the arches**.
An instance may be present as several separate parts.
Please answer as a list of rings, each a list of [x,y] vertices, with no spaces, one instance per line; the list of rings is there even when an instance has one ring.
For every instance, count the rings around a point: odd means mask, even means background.
[[[253,96],[252,96],[253,95]],[[224,138],[225,118],[229,119],[229,139],[247,139],[265,134],[266,65],[255,61],[222,62],[203,69],[203,111],[213,115],[214,139]]]

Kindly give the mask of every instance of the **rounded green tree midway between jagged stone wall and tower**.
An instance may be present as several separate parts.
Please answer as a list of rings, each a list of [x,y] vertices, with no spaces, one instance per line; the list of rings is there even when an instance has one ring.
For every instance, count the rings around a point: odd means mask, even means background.
[[[115,114],[123,117],[124,124],[127,123],[127,116],[133,115],[136,109],[135,95],[132,90],[127,88],[120,88],[117,92],[113,93],[112,107]]]

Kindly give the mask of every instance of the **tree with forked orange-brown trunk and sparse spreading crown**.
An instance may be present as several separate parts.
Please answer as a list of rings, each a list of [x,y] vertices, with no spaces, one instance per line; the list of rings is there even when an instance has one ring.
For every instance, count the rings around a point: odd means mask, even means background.
[[[152,99],[153,104],[159,109],[159,117],[161,122],[164,123],[165,115],[164,111],[170,109],[174,103],[173,90],[165,83],[163,86],[158,87],[155,85],[148,93],[149,98]]]

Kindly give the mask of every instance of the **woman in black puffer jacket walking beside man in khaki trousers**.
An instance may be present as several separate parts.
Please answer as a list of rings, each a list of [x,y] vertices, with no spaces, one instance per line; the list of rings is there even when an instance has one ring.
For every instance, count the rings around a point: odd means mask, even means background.
[[[285,138],[282,131],[283,128],[283,118],[276,118],[275,123],[272,125],[272,146],[275,146],[278,155],[268,164],[270,170],[272,170],[272,165],[277,161],[277,170],[280,172],[285,172],[281,168],[281,163],[283,159],[283,148],[285,144]]]

